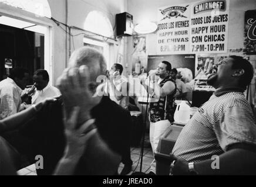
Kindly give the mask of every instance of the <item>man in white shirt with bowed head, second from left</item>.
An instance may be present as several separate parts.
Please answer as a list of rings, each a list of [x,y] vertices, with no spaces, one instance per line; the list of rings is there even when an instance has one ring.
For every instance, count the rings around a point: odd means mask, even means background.
[[[32,95],[32,104],[60,95],[58,88],[49,85],[49,74],[46,70],[36,70],[33,75],[33,82],[36,89]]]

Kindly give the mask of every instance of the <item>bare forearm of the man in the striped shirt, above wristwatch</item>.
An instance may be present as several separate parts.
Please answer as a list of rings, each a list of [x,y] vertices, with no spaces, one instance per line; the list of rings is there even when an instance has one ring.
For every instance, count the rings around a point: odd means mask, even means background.
[[[219,158],[219,165],[218,165]],[[213,160],[195,162],[199,175],[242,175],[256,174],[256,153],[236,148]]]

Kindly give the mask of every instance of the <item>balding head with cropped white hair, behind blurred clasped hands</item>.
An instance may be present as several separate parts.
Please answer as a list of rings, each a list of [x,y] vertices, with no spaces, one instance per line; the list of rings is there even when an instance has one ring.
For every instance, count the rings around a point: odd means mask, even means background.
[[[106,61],[100,51],[92,47],[81,47],[72,53],[69,67],[80,67],[87,65],[91,81],[96,81],[99,75],[105,75],[107,70]]]

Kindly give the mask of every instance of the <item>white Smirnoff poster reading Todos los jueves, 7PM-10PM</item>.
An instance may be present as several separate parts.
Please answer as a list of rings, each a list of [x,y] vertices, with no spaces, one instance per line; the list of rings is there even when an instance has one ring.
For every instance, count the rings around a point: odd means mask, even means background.
[[[191,53],[227,53],[228,1],[203,1],[193,5]]]

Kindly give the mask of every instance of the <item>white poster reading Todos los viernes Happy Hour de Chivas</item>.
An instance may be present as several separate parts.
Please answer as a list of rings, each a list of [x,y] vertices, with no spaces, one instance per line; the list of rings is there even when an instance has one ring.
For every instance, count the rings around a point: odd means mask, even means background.
[[[190,38],[190,5],[158,10],[157,54],[187,54]]]

